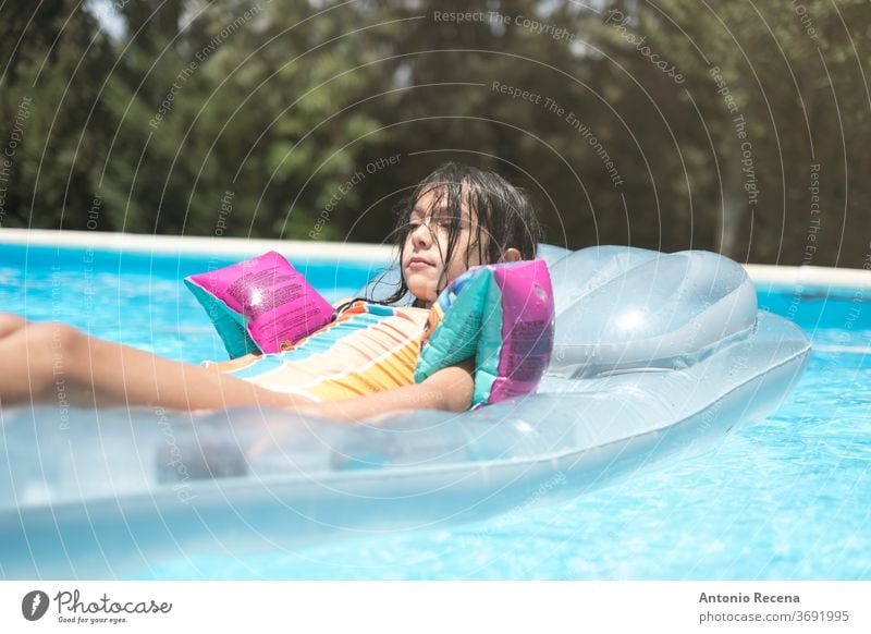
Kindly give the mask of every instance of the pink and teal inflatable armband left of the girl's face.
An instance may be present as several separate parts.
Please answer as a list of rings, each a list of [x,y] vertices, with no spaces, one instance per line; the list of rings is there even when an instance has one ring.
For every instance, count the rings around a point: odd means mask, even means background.
[[[332,320],[332,306],[271,251],[184,280],[231,358],[292,346]]]

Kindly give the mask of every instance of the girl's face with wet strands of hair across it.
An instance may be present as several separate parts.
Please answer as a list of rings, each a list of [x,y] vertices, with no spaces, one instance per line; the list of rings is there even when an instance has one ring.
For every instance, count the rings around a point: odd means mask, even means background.
[[[459,233],[451,261],[444,261],[447,253],[447,229],[451,219],[445,196],[428,190],[415,203],[408,218],[410,230],[405,237],[402,253],[402,273],[412,294],[429,306],[439,293],[466,272],[468,267],[482,264],[478,245],[474,212],[466,204],[466,188],[463,187],[463,217],[459,219]],[[468,254],[468,266],[467,257]]]

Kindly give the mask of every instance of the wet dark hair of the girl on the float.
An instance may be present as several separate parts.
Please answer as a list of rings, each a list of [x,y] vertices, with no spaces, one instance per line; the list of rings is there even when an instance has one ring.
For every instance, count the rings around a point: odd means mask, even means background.
[[[469,256],[475,248],[478,249],[478,261],[482,264],[495,264],[510,247],[518,249],[523,259],[536,257],[536,248],[542,239],[541,225],[525,192],[495,172],[446,162],[420,181],[412,195],[396,207],[393,243],[398,246],[400,263],[408,233],[415,229],[409,222],[412,212],[417,202],[429,192],[434,194],[432,207],[444,205],[440,215],[444,216],[443,225],[447,230],[446,252],[441,254],[445,265],[451,261],[459,240],[464,195],[469,212],[477,217],[473,223],[469,249],[465,254],[466,268],[469,267]],[[429,215],[432,209],[422,211]],[[446,269],[445,266],[439,292],[447,285]],[[379,303],[394,304],[407,292],[405,279],[401,279],[396,292]]]

